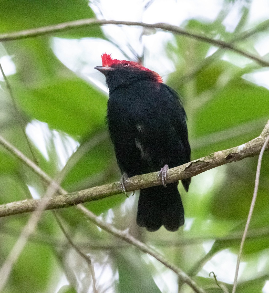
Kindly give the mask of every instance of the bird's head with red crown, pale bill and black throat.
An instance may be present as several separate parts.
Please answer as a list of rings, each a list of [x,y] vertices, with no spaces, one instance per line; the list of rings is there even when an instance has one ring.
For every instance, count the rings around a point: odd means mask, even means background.
[[[118,86],[128,86],[139,80],[150,80],[162,83],[163,80],[158,73],[133,61],[112,59],[111,54],[102,55],[102,66],[96,66],[105,75],[109,91]]]

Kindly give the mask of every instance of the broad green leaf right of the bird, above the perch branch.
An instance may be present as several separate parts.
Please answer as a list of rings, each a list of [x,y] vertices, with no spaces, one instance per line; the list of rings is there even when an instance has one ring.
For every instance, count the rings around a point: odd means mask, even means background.
[[[196,116],[195,136],[217,132],[268,115],[268,90],[243,79],[233,80]]]

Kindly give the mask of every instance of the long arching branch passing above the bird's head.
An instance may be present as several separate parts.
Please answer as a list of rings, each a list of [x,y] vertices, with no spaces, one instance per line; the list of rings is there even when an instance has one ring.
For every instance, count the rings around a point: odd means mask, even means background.
[[[251,53],[248,53],[241,49],[236,48],[232,43],[227,43],[222,40],[215,40],[204,35],[191,33],[191,32],[188,32],[187,30],[184,30],[183,28],[180,28],[176,25],[170,25],[168,23],[151,24],[151,23],[143,23],[143,22],[135,22],[135,21],[115,21],[115,20],[104,20],[104,19],[99,20],[95,18],[87,18],[87,19],[79,19],[76,21],[68,21],[65,23],[59,23],[56,25],[43,26],[41,28],[33,28],[29,30],[21,30],[18,32],[0,34],[0,42],[18,40],[18,39],[30,38],[30,37],[37,37],[37,36],[46,35],[50,33],[59,33],[59,32],[69,30],[69,29],[74,29],[74,28],[91,27],[91,26],[105,25],[105,24],[135,25],[135,26],[142,26],[144,28],[159,28],[161,30],[176,33],[178,35],[185,35],[185,36],[188,36],[189,38],[207,42],[214,46],[237,52],[245,56],[246,58],[256,61],[261,66],[264,66],[264,67],[269,66],[269,62]]]

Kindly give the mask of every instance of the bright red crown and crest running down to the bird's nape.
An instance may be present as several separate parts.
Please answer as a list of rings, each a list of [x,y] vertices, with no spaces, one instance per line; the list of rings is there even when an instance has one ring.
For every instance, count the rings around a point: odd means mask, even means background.
[[[163,79],[161,78],[161,76],[159,76],[159,74],[155,71],[152,71],[144,66],[142,66],[141,64],[134,62],[134,61],[126,61],[126,60],[118,60],[118,59],[112,59],[111,58],[111,54],[106,54],[104,53],[102,55],[102,66],[103,67],[112,67],[113,65],[120,65],[122,64],[123,67],[128,67],[128,68],[137,68],[143,71],[149,71],[152,73],[152,75],[154,75],[154,77],[156,78],[156,81],[159,83],[163,82]]]

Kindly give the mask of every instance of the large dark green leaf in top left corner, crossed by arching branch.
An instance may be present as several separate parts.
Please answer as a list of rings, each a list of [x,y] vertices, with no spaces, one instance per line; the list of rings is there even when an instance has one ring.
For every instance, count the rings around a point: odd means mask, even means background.
[[[86,0],[44,0],[44,1],[1,1],[0,31],[2,33],[54,25],[66,21],[95,17]],[[19,17],[18,17],[19,16]],[[96,26],[69,30],[65,35],[102,38],[101,29]]]

